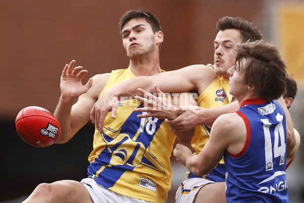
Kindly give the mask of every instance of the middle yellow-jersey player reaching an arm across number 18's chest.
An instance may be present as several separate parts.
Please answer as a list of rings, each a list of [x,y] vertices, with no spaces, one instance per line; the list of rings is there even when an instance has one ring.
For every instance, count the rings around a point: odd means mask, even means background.
[[[192,147],[198,154],[209,139],[213,121],[221,114],[231,113],[239,109],[237,102],[230,103],[233,97],[227,92],[229,75],[227,70],[235,64],[234,48],[238,43],[256,41],[262,38],[261,32],[253,23],[241,18],[223,17],[216,26],[217,35],[214,40],[214,69],[205,65],[191,65],[176,71],[157,74],[151,77],[136,77],[107,90],[94,105],[91,111],[95,123],[103,126],[105,114],[109,111],[104,103],[112,108],[115,116],[116,104],[105,100],[108,95],[121,96],[118,91],[129,91],[143,95],[138,91],[140,87],[147,92],[155,92],[154,85],[163,92],[196,91],[199,94],[198,108],[189,108],[175,120],[168,120],[170,128],[176,132],[197,126],[192,139]],[[152,96],[150,97],[152,99]],[[230,104],[229,104],[230,103]],[[145,108],[144,111],[148,111]],[[287,111],[287,108],[286,108]],[[96,116],[97,115],[97,116]],[[154,114],[149,114],[153,116]],[[143,115],[144,116],[144,115]],[[179,122],[177,122],[179,121]],[[180,124],[181,123],[181,124]],[[294,136],[288,136],[290,146],[294,146]],[[291,151],[288,151],[288,153]],[[294,156],[294,154],[289,154]],[[176,201],[183,202],[225,202],[225,166],[223,160],[207,177],[187,174],[185,180],[176,193]],[[211,184],[212,183],[212,184]]]

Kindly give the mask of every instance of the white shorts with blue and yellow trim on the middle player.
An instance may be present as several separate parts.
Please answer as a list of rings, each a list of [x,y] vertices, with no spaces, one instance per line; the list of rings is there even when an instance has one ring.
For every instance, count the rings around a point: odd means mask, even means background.
[[[206,178],[191,178],[182,182],[176,191],[177,203],[191,203],[198,191],[207,184],[216,183]]]

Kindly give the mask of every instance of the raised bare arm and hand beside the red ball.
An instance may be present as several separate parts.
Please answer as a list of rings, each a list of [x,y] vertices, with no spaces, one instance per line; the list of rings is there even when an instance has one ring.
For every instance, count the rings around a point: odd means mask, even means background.
[[[81,66],[73,68],[74,64],[74,60],[66,64],[61,76],[61,96],[54,112],[61,127],[57,144],[69,141],[88,122],[90,110],[98,98],[98,92],[102,90],[101,82],[97,82],[101,79],[100,76],[95,76],[86,85],[82,85],[82,79],[87,71]],[[103,79],[106,82],[107,75],[103,76]],[[77,98],[77,103],[73,105]]]

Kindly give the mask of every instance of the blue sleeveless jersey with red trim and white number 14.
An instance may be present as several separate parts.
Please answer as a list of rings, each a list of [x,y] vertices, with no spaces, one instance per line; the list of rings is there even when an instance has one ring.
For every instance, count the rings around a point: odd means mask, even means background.
[[[246,99],[236,112],[247,140],[238,154],[225,152],[227,202],[289,202],[286,118],[277,101]]]

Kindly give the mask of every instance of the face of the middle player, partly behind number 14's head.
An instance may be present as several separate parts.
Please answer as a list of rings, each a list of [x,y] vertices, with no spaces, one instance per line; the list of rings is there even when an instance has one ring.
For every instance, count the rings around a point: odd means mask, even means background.
[[[240,31],[225,29],[219,31],[214,40],[214,65],[217,75],[229,79],[227,70],[235,64],[235,46],[242,43]]]

